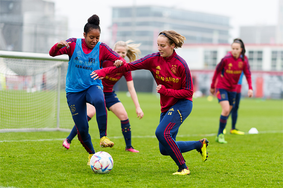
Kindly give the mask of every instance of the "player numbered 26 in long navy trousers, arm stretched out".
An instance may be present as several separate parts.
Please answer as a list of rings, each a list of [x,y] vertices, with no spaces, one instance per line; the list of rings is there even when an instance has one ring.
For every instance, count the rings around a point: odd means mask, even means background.
[[[159,33],[158,52],[147,55],[119,68],[108,67],[92,72],[92,78],[103,79],[107,75],[145,69],[151,71],[157,83],[156,91],[160,94],[161,115],[155,135],[159,141],[162,155],[170,155],[179,166],[174,175],[187,175],[190,170],[182,155],[196,149],[202,161],[207,160],[208,140],[176,141],[180,125],[192,110],[193,83],[189,67],[184,59],[176,54],[175,48],[182,47],[186,38],[173,30]]]

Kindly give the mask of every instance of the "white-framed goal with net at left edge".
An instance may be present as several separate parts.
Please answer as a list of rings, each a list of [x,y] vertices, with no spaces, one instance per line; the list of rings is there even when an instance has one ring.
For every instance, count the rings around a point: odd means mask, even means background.
[[[69,57],[0,51],[0,132],[67,131]]]

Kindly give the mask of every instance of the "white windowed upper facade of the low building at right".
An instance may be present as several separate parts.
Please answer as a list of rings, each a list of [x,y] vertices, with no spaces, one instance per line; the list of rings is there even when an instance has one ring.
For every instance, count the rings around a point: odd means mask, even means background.
[[[283,71],[283,44],[245,44],[251,70]],[[214,70],[230,44],[184,44],[176,49],[190,70]]]

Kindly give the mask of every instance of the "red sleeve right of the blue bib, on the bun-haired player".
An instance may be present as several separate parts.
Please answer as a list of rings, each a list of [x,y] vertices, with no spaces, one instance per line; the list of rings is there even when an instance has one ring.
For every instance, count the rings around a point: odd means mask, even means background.
[[[115,51],[113,51],[111,48],[109,48],[108,45],[104,43],[100,43],[99,46],[99,60],[100,60],[100,67],[102,67],[103,61],[109,60],[112,62],[115,62],[116,60],[122,60],[124,64],[126,63],[126,60],[122,58],[119,54],[117,54]]]

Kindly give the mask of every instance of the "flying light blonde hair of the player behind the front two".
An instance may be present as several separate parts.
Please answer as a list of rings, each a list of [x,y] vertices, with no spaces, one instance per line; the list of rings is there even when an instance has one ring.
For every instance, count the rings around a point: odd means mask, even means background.
[[[131,42],[134,42],[133,40],[128,41],[118,41],[114,44],[114,51],[118,46],[125,47],[127,50],[127,57],[129,58],[130,62],[135,61],[139,54],[141,54],[141,50],[138,49],[138,47],[141,45],[139,44],[129,44]]]

